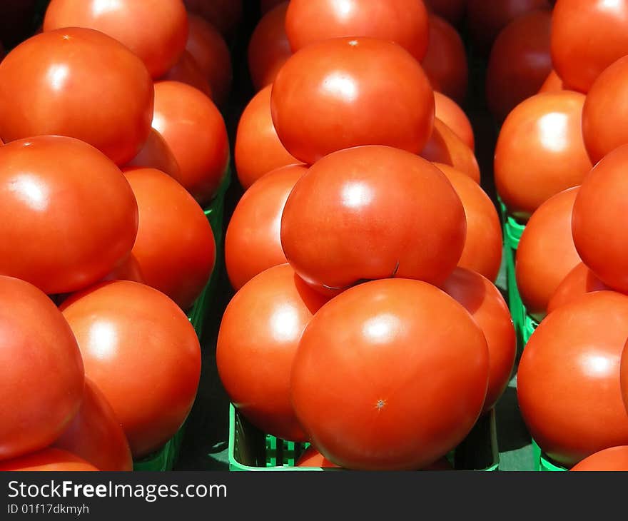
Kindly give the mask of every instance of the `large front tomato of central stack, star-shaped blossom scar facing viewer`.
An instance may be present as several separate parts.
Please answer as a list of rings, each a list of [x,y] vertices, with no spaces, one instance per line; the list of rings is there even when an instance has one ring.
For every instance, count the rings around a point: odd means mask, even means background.
[[[462,305],[418,280],[375,280],[310,320],[293,363],[292,402],[336,465],[412,470],[470,432],[488,370],[484,334]]]

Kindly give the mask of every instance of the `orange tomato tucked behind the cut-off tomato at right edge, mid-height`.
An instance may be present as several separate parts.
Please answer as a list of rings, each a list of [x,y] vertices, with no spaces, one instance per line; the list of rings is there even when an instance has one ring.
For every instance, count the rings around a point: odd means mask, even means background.
[[[572,209],[578,188],[548,199],[532,214],[522,233],[515,276],[527,313],[540,320],[558,285],[580,258],[572,238]]]

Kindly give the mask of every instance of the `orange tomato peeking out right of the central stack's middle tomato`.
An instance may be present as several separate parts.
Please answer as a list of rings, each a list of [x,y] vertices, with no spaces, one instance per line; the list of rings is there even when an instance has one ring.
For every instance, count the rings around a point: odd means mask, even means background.
[[[464,173],[441,163],[435,166],[450,180],[465,208],[467,236],[458,265],[495,280],[502,263],[502,226],[495,205]]]

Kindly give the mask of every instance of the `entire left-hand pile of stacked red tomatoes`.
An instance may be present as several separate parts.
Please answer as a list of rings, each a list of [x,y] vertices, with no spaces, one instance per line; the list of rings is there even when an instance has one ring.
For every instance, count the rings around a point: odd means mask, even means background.
[[[230,82],[181,0],[52,0],[1,61],[0,469],[131,470],[186,420]]]

